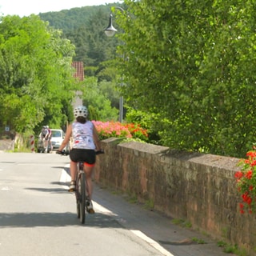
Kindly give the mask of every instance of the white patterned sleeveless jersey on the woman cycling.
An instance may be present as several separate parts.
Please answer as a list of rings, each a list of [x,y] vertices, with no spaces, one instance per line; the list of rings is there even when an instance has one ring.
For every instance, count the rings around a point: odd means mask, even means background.
[[[72,123],[72,136],[74,149],[87,149],[95,150],[94,144],[94,125],[90,121],[86,123],[73,122]]]

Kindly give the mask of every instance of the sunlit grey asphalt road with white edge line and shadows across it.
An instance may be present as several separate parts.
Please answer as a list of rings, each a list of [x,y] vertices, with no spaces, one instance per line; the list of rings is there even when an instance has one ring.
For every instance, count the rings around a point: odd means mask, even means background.
[[[68,164],[57,154],[0,152],[0,255],[226,255],[209,236],[97,185],[96,214],[82,225],[67,192]]]

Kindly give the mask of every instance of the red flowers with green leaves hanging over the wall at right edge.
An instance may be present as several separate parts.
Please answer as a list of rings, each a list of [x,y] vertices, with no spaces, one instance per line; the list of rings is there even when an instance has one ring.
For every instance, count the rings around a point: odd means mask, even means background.
[[[256,212],[256,148],[247,152],[246,156],[246,159],[238,162],[242,169],[234,174],[234,178],[242,197],[240,212],[244,214],[246,208],[252,214]]]

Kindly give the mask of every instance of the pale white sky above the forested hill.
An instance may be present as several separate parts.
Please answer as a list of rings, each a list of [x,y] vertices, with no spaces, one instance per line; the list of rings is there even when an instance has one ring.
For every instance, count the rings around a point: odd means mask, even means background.
[[[70,10],[82,6],[100,6],[118,0],[0,0],[0,16],[46,13],[49,11]]]

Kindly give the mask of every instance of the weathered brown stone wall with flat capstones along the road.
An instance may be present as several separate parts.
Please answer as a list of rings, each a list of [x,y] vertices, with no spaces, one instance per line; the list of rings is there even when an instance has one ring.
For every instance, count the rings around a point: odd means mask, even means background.
[[[95,181],[134,194],[171,218],[186,219],[213,238],[256,250],[256,218],[240,214],[238,158],[170,150],[140,142],[102,141]]]

